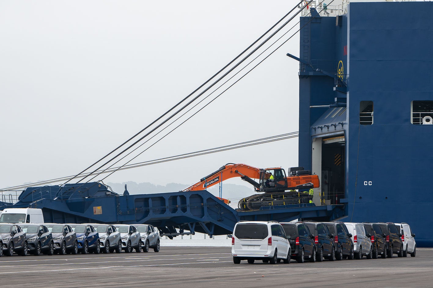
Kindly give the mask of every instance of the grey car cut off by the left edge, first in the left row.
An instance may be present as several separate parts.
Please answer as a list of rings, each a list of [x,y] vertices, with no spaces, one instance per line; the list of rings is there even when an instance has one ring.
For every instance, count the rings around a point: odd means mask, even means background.
[[[3,242],[2,252],[5,251],[7,256],[12,256],[14,252],[19,255],[26,256],[27,237],[23,229],[16,224],[2,223],[0,224],[0,237]]]

